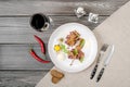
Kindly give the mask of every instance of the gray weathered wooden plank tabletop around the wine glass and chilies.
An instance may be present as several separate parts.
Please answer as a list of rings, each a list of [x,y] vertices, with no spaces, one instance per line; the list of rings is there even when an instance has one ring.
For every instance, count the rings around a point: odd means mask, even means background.
[[[46,46],[52,32],[61,24],[79,22],[94,29],[106,17],[129,0],[1,0],[0,1],[0,87],[35,87],[53,66],[41,64],[29,53],[29,44],[40,54],[34,34],[40,36]],[[100,22],[87,22],[88,15],[78,20],[74,9],[83,7],[88,12],[100,14]],[[38,33],[29,26],[34,13],[44,13],[54,21],[54,26]],[[47,54],[49,58],[49,55]]]

